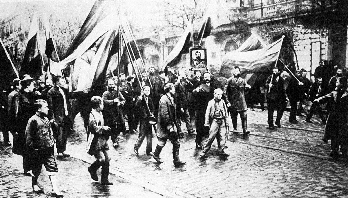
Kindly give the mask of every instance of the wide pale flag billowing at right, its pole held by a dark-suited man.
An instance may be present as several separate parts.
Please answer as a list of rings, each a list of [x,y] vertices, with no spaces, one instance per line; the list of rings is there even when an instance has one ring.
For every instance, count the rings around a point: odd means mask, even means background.
[[[268,76],[272,73],[272,69],[275,67],[275,64],[279,58],[279,51],[281,49],[283,39],[284,37],[270,45],[265,46],[264,48],[257,50],[236,50],[228,52],[222,61],[220,74],[226,78],[229,78],[232,76],[232,69],[235,66],[239,66],[241,69],[241,76],[245,78],[248,84],[253,86],[259,75]],[[243,46],[243,49],[252,49],[252,47],[249,46],[246,48]],[[281,63],[278,61],[277,66],[279,64]]]

